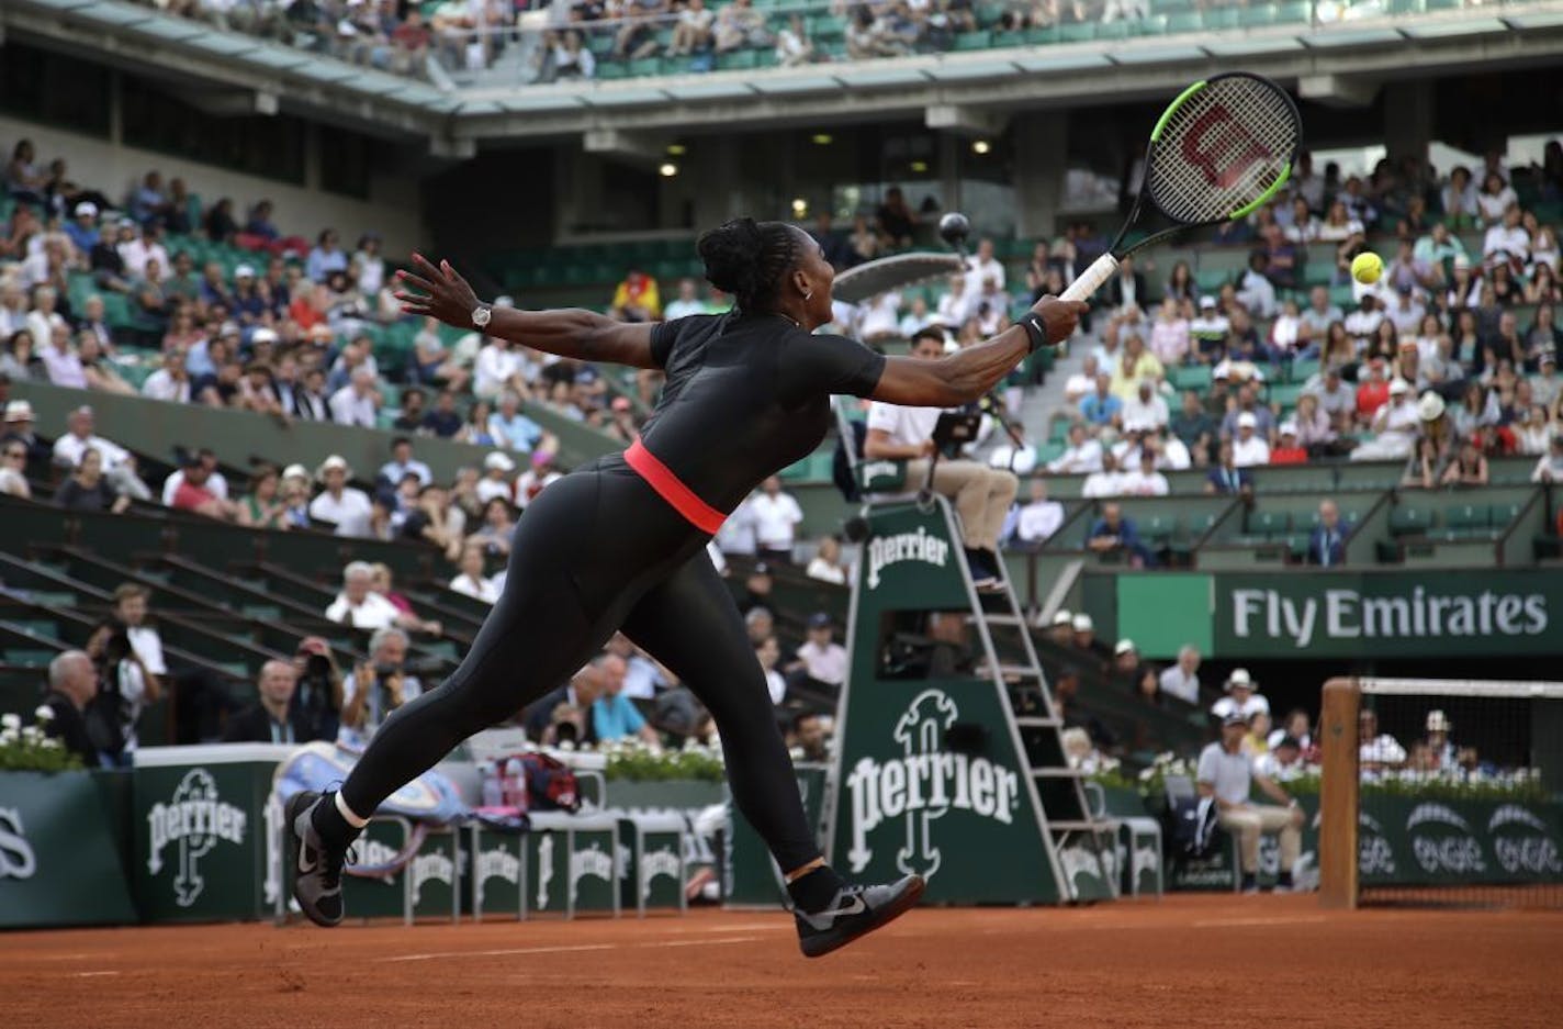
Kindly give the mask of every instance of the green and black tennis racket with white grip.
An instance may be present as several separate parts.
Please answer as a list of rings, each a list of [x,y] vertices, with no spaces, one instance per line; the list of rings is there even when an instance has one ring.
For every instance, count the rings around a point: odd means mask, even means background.
[[[1064,289],[1063,300],[1085,300],[1105,283],[1118,263],[1196,225],[1244,217],[1274,197],[1291,178],[1302,144],[1302,119],[1286,92],[1249,72],[1200,80],[1161,113],[1146,147],[1146,169],[1128,220],[1108,252]],[[1177,222],[1124,247],[1146,197]]]

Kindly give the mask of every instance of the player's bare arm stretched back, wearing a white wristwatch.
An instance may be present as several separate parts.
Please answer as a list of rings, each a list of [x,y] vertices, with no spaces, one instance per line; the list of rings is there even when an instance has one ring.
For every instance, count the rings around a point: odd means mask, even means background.
[[[450,261],[441,261],[439,267],[435,267],[422,255],[414,253],[413,266],[416,272],[397,272],[403,286],[395,292],[402,311],[433,316],[456,328],[475,328],[472,311],[481,302]],[[483,333],[577,361],[658,368],[652,358],[650,324],[616,322],[596,311],[494,308],[494,317]]]

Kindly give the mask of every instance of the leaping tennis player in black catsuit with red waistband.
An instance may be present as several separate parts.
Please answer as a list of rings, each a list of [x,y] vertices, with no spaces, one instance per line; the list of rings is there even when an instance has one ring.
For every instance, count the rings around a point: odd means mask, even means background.
[[[975,400],[1027,352],[1068,338],[1086,305],[1044,297],[980,346],[886,358],[813,335],[830,321],[835,272],[802,230],[738,219],[702,235],[699,252],[736,307],[660,324],[492,308],[449,263],[417,255],[416,271],[402,274],[408,314],[581,361],[660,368],[667,382],[638,443],[566,475],[527,510],[503,594],[455,674],[386,719],[339,791],[289,802],[294,896],[314,923],[342,921],[349,846],[386,796],[569,679],[619,629],[716,719],[733,798],[786,871],[803,954],[827,954],[922,895],[919,876],[857,885],[825,865],[764,674],[705,544],[756,483],[819,446],[832,394],[914,407]]]

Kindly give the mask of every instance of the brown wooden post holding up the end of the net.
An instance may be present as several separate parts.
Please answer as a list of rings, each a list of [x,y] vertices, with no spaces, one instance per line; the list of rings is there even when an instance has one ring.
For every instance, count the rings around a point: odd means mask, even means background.
[[[1319,743],[1324,774],[1319,783],[1319,905],[1357,907],[1357,710],[1361,685],[1355,679],[1324,683]]]

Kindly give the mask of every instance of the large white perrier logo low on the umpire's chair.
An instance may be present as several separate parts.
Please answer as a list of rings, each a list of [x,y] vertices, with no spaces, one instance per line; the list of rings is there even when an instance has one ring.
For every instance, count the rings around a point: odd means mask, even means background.
[[[861,758],[847,776],[852,794],[852,871],[874,860],[869,834],[889,819],[905,819],[903,846],[896,866],[905,874],[932,877],[942,855],[933,843],[933,821],[952,810],[972,812],[1008,826],[1019,805],[1021,776],[985,757],[944,754],[944,732],[960,712],[941,690],[924,690],[896,721],[894,740],[902,757],[888,762]]]

